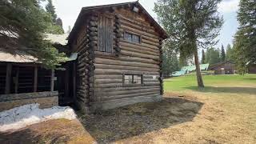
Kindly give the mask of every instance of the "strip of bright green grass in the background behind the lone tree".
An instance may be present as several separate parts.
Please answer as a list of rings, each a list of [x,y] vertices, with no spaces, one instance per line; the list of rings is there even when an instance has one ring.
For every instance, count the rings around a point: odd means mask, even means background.
[[[236,87],[241,85],[250,86],[250,84],[256,84],[256,74],[203,75],[202,77],[203,77],[203,82],[206,86],[204,90],[209,90],[213,86]],[[164,80],[164,90],[166,91],[198,90],[196,76],[185,75],[182,77],[167,78]]]

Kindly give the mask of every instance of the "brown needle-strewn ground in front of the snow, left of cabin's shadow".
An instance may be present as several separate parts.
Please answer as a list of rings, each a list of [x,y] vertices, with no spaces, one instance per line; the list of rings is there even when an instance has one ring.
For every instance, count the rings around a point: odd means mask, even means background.
[[[0,132],[1,144],[66,143],[78,138],[80,143],[94,142],[78,120],[66,119],[49,120],[16,131]]]

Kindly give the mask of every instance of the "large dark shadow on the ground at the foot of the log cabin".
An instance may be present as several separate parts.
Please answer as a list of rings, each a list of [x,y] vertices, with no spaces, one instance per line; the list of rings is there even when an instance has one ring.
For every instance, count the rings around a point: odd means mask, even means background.
[[[184,98],[164,98],[162,102],[138,103],[80,115],[79,120],[98,143],[109,143],[190,122],[202,105],[202,102]]]

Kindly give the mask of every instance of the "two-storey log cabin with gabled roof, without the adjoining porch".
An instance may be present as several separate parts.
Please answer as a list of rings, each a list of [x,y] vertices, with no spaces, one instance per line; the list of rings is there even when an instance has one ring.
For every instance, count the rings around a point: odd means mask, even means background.
[[[78,108],[90,113],[161,100],[166,38],[139,2],[83,7],[67,44],[78,53]]]

